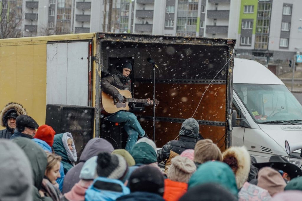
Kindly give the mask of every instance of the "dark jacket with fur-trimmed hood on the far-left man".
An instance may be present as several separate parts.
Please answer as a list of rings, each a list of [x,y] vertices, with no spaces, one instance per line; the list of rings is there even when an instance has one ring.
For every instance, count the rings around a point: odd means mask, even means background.
[[[0,112],[0,125],[6,129],[0,130],[0,138],[10,139],[14,133],[14,129],[8,127],[7,124],[7,118],[11,113],[15,113],[17,115],[27,114],[25,108],[21,104],[11,102],[5,105],[3,110]]]

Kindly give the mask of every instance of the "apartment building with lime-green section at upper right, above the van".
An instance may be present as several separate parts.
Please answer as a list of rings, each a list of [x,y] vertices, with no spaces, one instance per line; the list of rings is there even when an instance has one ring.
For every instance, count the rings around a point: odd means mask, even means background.
[[[292,59],[302,51],[301,7],[300,0],[241,0],[237,55],[270,65]]]

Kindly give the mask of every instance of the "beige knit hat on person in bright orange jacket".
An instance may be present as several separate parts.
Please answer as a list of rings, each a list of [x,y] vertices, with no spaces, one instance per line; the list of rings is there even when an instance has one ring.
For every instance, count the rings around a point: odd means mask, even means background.
[[[171,160],[167,176],[169,180],[188,183],[195,171],[196,165],[192,160],[182,156],[175,156]]]

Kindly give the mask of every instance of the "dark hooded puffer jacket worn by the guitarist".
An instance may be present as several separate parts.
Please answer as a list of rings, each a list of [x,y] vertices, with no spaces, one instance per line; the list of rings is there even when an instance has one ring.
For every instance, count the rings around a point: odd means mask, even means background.
[[[128,77],[125,77],[119,70],[117,70],[118,65],[121,65],[119,68],[122,68],[122,66],[124,65],[123,62],[125,61],[118,62],[117,65],[112,68],[111,73],[101,79],[102,90],[107,94],[110,94],[114,98],[117,98],[117,95],[119,94],[116,88],[127,89],[131,91],[131,79],[129,78],[130,75]],[[113,86],[116,88],[114,88]]]

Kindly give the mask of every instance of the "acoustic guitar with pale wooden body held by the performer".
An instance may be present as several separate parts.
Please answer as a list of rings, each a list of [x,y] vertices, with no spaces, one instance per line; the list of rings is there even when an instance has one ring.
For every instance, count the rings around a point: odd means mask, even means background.
[[[114,87],[114,88],[116,88],[116,87]],[[132,98],[131,92],[129,90],[126,90],[126,89],[121,90],[118,88],[116,88],[116,89],[124,97],[124,101],[122,103],[118,102],[115,98],[113,98],[111,95],[108,95],[104,91],[102,91],[102,93],[101,93],[102,107],[106,112],[108,112],[110,114],[116,113],[120,110],[129,111],[130,108],[128,106],[128,103],[146,103],[147,102],[147,99]],[[158,105],[159,101],[154,100],[153,103],[155,105]]]

